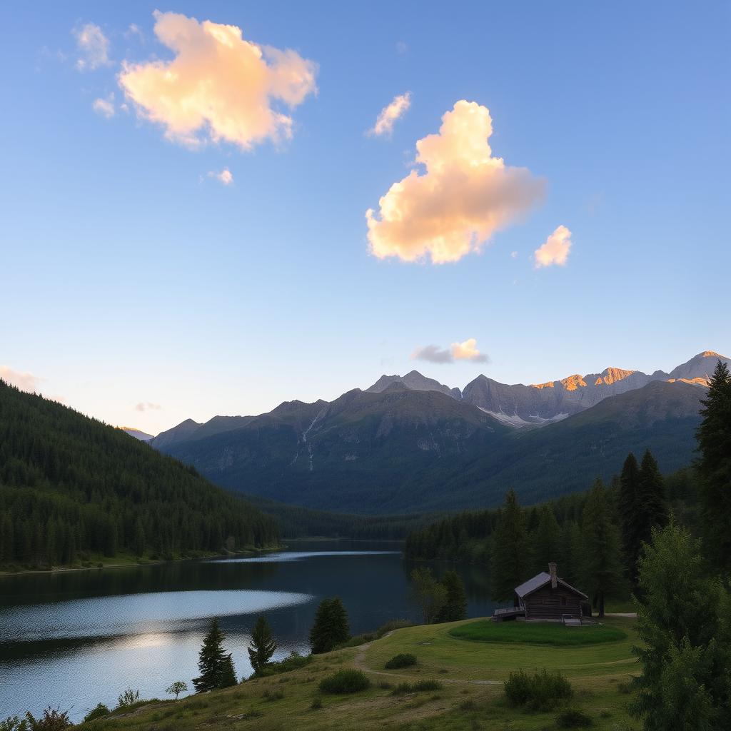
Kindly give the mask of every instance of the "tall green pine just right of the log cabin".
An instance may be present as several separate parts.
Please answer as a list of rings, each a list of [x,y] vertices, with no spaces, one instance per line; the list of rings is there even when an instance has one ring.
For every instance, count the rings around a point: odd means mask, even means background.
[[[601,480],[586,499],[583,512],[584,586],[594,598],[599,617],[604,616],[605,599],[621,587],[622,564],[619,531],[612,523],[607,491]]]

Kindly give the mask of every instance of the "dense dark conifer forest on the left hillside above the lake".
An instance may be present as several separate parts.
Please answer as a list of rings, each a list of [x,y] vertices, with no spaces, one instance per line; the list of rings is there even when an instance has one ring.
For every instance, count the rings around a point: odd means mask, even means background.
[[[121,429],[0,380],[0,566],[275,545],[276,520]]]

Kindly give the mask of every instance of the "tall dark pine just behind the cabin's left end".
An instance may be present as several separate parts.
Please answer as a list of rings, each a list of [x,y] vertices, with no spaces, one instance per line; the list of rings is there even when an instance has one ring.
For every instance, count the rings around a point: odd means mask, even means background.
[[[493,533],[491,561],[492,596],[496,602],[515,598],[515,587],[529,578],[526,520],[518,504],[518,496],[510,490]]]

